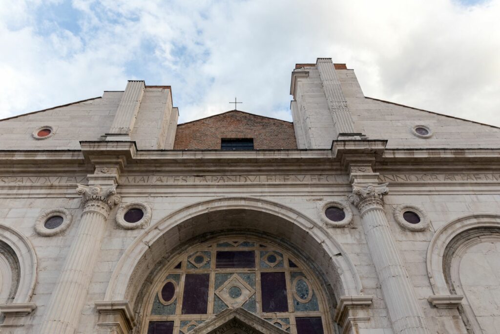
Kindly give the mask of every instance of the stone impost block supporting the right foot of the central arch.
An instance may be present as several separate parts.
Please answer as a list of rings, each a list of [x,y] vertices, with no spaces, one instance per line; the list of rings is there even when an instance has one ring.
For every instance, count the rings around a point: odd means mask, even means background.
[[[350,333],[358,322],[369,321],[366,310],[371,306],[372,300],[371,295],[341,296],[338,299],[333,320],[342,327],[342,334]]]

